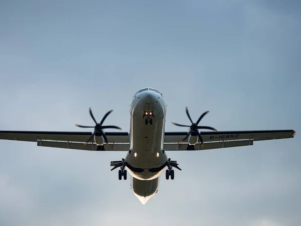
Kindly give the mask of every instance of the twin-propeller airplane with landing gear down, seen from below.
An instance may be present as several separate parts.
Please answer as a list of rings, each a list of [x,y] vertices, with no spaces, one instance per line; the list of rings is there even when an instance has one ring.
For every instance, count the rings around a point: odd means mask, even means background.
[[[0,131],[0,139],[36,142],[38,146],[67,148],[87,151],[124,151],[126,156],[120,161],[111,161],[111,170],[118,170],[118,179],[131,178],[134,195],[145,204],[159,188],[161,174],[174,180],[173,168],[182,170],[177,161],[168,158],[168,151],[198,151],[253,145],[254,141],[293,138],[295,130],[265,131],[216,131],[199,123],[209,111],[204,112],[194,123],[188,108],[186,115],[191,125],[173,123],[186,127],[186,132],[165,132],[167,105],[157,89],[146,87],[138,90],[130,103],[129,132],[104,132],[105,129],[121,129],[103,125],[112,112],[108,111],[100,123],[96,121],[91,108],[89,113],[95,126],[93,132],[50,132],[50,131]],[[210,132],[200,132],[208,129]]]

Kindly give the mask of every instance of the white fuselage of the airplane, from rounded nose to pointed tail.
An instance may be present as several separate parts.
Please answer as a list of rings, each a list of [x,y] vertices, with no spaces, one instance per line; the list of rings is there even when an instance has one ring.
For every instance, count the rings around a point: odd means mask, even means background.
[[[152,113],[145,115],[145,112]],[[149,169],[161,167],[168,160],[163,151],[166,116],[163,95],[151,90],[136,93],[131,101],[130,116],[130,152],[125,161],[143,172],[126,168],[131,175],[133,193],[145,204],[158,191],[159,176],[165,167],[158,172],[149,172]]]

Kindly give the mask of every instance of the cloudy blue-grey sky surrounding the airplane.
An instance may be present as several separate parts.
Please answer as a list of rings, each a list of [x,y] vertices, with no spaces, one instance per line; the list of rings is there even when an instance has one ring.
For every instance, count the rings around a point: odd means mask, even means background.
[[[88,109],[129,131],[153,87],[166,131],[206,110],[219,131],[296,130],[293,139],[168,152],[182,171],[145,205],[110,161],[0,141],[0,225],[297,226],[301,222],[299,1],[0,1],[0,130],[89,131]]]

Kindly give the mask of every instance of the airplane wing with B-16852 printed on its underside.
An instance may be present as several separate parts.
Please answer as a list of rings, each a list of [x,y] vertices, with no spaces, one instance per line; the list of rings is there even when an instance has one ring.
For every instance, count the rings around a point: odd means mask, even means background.
[[[202,147],[200,143],[189,145],[179,143],[187,132],[165,132],[164,150],[165,151],[195,151],[217,148],[230,148],[239,146],[253,145],[254,141],[274,140],[293,138],[294,130],[262,130],[262,131],[218,131],[201,132],[204,141]]]

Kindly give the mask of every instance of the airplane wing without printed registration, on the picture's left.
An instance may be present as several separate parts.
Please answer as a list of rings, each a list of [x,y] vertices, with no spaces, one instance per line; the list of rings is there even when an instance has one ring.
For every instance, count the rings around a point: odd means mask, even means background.
[[[92,132],[50,132],[50,131],[0,131],[0,140],[36,142],[38,146],[68,148],[88,151],[128,151],[127,132],[106,132],[109,145],[97,146],[84,143]]]

